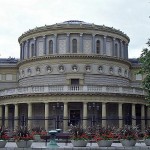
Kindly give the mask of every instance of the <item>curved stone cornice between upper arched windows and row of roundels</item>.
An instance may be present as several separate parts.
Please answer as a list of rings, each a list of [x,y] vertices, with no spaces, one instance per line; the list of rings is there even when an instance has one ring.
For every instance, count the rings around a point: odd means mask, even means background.
[[[39,57],[32,57],[30,59],[26,59],[23,61],[18,62],[17,67],[20,67],[21,65],[24,65],[26,63],[31,63],[35,61],[42,61],[42,60],[49,60],[49,59],[101,59],[101,60],[107,60],[107,61],[115,61],[120,62],[128,65],[131,67],[131,63],[128,60],[121,59],[121,58],[115,58],[115,57],[109,57],[109,56],[103,56],[103,55],[95,55],[95,54],[55,54],[55,55],[47,55],[47,56],[39,56]]]

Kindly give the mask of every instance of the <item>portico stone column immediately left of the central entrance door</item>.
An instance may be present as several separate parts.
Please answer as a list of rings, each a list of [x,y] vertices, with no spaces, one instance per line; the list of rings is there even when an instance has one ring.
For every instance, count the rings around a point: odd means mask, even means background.
[[[64,102],[64,120],[63,120],[63,131],[68,129],[68,103]]]

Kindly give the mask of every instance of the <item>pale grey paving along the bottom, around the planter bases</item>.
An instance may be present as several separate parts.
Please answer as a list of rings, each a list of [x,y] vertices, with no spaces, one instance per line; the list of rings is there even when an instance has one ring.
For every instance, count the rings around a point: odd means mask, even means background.
[[[58,143],[58,148],[47,148],[45,142],[34,142],[31,148],[17,148],[15,142],[7,142],[5,148],[0,150],[150,150],[145,143],[136,143],[134,147],[123,147],[121,143],[113,143],[111,147],[98,147],[96,143],[87,144],[86,147],[73,147],[71,143]]]

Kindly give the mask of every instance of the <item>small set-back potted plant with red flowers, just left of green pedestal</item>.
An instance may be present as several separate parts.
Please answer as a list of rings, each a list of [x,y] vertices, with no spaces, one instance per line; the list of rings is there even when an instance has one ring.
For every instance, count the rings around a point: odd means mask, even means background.
[[[47,132],[44,131],[41,127],[32,128],[33,139],[37,142],[41,141],[41,136],[47,135]]]

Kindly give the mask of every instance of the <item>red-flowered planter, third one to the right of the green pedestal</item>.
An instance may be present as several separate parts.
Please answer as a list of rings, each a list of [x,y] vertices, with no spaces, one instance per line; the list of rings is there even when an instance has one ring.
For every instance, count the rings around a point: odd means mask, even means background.
[[[119,129],[118,139],[123,146],[135,146],[138,139],[138,133],[139,131],[137,127],[125,126]]]

